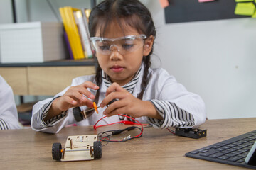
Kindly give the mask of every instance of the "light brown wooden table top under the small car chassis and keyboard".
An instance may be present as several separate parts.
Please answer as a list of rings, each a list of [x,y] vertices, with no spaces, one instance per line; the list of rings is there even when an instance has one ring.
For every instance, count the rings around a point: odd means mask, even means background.
[[[171,135],[168,130],[144,128],[141,138],[108,143],[102,159],[82,162],[56,162],[52,159],[53,142],[65,145],[68,135],[92,135],[105,130],[125,128],[110,125],[93,130],[92,126],[64,128],[58,134],[31,129],[0,131],[1,169],[243,169],[238,166],[185,157],[186,152],[212,145],[256,129],[256,118],[206,120],[200,128],[207,137],[191,139]],[[132,135],[138,131],[132,130]],[[124,134],[127,136],[130,133]]]

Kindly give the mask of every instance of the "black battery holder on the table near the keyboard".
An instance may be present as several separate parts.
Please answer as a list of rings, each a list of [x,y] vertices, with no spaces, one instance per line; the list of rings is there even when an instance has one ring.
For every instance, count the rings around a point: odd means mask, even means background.
[[[184,136],[184,137],[191,137],[194,139],[198,139],[201,137],[206,137],[206,130],[200,130],[192,128],[175,128],[175,134]]]

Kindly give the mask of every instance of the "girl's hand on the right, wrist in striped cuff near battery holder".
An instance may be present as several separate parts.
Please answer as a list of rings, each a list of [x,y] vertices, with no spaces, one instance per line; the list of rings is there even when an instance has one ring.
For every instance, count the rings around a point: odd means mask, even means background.
[[[127,90],[123,89],[119,84],[113,83],[106,91],[106,97],[100,104],[100,107],[104,107],[112,101],[114,98],[118,98],[118,101],[114,101],[109,107],[106,108],[103,114],[108,117],[117,114],[127,114],[134,118],[142,116],[156,117],[159,115],[156,112],[153,104],[150,101],[142,101],[139,98],[132,96]],[[159,115],[160,116],[160,115]]]

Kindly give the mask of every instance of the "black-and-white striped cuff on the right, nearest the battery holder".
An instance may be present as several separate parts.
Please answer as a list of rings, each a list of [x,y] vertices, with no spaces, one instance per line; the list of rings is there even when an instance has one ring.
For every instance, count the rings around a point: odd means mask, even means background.
[[[159,100],[150,101],[154,104],[156,111],[158,111],[163,118],[163,120],[159,120],[147,117],[149,123],[157,128],[193,127],[193,125],[195,125],[193,115],[179,108],[175,103]]]

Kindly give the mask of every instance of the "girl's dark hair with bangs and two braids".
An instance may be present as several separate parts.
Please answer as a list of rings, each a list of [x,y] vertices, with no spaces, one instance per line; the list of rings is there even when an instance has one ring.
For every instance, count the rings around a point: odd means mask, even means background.
[[[100,4],[92,8],[89,17],[89,32],[90,36],[94,37],[96,28],[100,27],[100,34],[104,36],[105,30],[109,23],[116,21],[120,28],[124,30],[124,24],[128,24],[132,28],[137,29],[138,33],[142,33],[149,37],[153,35],[156,37],[156,30],[154,22],[151,18],[149,10],[138,0],[105,0]],[[122,22],[124,21],[124,22]],[[145,69],[142,81],[142,91],[137,96],[142,99],[144,89],[148,83],[149,67],[151,66],[150,56],[153,52],[153,47],[149,55],[143,57],[145,63]],[[100,86],[102,84],[102,69],[98,64],[96,69],[96,84]],[[95,100],[98,100],[97,91]]]

